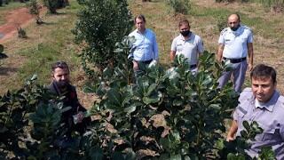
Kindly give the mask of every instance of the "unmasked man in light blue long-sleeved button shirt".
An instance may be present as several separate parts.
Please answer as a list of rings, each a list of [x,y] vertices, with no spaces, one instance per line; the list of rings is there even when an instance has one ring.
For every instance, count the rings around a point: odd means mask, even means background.
[[[158,44],[154,32],[146,28],[146,19],[139,14],[134,19],[135,29],[129,36],[135,37],[135,43],[131,46],[130,57],[132,58],[135,76],[145,73],[145,66],[149,65],[153,60],[159,59]]]

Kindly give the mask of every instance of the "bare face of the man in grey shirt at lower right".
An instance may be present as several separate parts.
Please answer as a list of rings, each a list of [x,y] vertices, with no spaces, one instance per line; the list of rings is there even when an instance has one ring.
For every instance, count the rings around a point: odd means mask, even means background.
[[[271,77],[252,77],[252,92],[259,102],[268,102],[276,89],[276,83],[273,84]]]

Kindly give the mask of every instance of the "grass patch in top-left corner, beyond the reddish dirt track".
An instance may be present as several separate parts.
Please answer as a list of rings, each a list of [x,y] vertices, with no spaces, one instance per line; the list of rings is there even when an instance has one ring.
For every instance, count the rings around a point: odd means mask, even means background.
[[[10,2],[7,5],[3,4],[2,6],[0,6],[0,25],[4,24],[5,22],[4,18],[9,11],[25,6],[26,6],[25,3],[20,3],[20,2]]]

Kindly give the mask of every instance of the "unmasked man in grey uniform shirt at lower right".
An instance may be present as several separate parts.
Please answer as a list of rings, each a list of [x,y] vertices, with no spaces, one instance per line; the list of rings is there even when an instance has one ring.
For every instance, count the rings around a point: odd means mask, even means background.
[[[276,71],[260,64],[253,68],[250,79],[251,88],[241,92],[227,140],[233,140],[235,134],[241,136],[243,121],[256,121],[264,132],[251,142],[248,155],[258,156],[262,147],[272,146],[276,158],[284,159],[284,97],[276,91]]]

